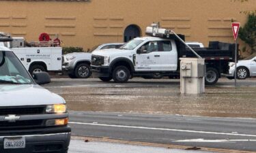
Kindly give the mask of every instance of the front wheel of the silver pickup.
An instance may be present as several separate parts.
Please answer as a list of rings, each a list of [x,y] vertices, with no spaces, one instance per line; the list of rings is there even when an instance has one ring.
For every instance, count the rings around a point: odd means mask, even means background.
[[[91,70],[89,65],[82,63],[76,66],[74,70],[74,75],[76,78],[89,78],[91,75]]]

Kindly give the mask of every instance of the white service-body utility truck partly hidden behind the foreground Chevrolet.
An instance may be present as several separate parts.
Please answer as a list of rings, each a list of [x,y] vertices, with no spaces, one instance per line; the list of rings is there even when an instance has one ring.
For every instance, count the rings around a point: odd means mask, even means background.
[[[10,37],[0,33],[0,37]],[[10,37],[11,41],[0,42],[10,48],[31,73],[38,71],[61,71],[62,48],[53,47],[53,41],[27,43],[23,37]]]

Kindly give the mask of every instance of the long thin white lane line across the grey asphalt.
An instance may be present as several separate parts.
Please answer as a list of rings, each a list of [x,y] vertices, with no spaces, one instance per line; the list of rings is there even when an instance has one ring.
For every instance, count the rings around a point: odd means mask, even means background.
[[[127,125],[115,125],[115,124],[94,124],[86,122],[68,122],[70,124],[82,124],[82,125],[94,125],[94,126],[109,126],[109,127],[120,127],[120,128],[130,128],[130,129],[147,129],[147,130],[160,130],[160,131],[176,131],[176,132],[186,132],[186,133],[203,133],[212,135],[233,135],[233,136],[243,136],[243,137],[256,137],[256,135],[246,135],[238,133],[217,133],[217,132],[207,132],[207,131],[193,131],[193,130],[182,130],[182,129],[165,129],[165,128],[154,128],[145,126],[127,126]]]

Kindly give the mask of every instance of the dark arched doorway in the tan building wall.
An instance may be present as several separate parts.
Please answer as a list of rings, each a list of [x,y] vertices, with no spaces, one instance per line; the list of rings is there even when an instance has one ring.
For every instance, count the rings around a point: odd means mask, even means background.
[[[124,30],[124,42],[128,42],[130,39],[141,36],[141,29],[135,25],[131,24]]]

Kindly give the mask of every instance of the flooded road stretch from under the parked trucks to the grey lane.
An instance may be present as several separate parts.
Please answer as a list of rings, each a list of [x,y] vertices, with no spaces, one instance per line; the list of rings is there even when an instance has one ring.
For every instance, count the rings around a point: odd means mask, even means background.
[[[256,118],[256,80],[223,79],[203,95],[181,95],[180,80],[132,79],[128,84],[98,79],[53,79],[44,87],[61,95],[68,109],[92,112],[180,114]]]

